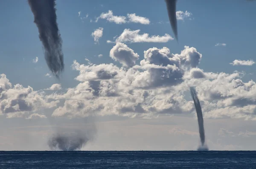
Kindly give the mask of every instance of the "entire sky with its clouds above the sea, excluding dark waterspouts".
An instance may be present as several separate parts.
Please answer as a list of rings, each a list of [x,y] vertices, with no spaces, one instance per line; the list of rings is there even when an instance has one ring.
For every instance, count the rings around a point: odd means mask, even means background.
[[[57,0],[64,72],[47,67],[26,0],[0,0],[0,150],[195,150],[196,86],[210,150],[256,150],[256,2]],[[89,134],[88,134],[89,133]]]

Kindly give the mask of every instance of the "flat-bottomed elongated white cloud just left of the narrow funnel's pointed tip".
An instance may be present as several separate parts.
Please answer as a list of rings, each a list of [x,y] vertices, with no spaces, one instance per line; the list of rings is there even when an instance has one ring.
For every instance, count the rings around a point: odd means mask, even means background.
[[[116,38],[117,42],[128,42],[128,43],[143,43],[143,42],[155,42],[155,43],[165,43],[169,40],[173,40],[169,34],[165,34],[164,36],[153,35],[149,36],[147,33],[139,34],[140,29],[132,31],[130,29],[125,29],[122,34]],[[107,43],[112,43],[110,40]]]

